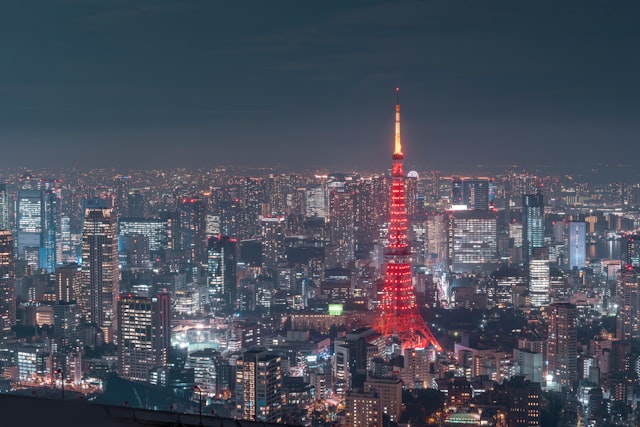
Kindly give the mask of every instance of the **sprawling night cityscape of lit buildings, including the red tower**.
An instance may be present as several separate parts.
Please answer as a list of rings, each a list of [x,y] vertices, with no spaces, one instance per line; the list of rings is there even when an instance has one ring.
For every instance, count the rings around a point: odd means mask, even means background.
[[[377,174],[5,171],[2,391],[305,426],[637,425],[640,183],[405,173],[395,96]]]

